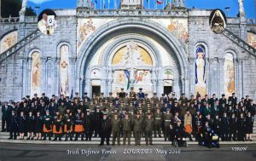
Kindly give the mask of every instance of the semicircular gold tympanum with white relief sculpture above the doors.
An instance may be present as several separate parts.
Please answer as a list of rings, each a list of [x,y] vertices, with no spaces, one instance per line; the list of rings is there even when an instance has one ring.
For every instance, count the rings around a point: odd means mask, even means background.
[[[113,66],[152,66],[153,61],[146,49],[135,42],[130,42],[119,49],[113,56]]]

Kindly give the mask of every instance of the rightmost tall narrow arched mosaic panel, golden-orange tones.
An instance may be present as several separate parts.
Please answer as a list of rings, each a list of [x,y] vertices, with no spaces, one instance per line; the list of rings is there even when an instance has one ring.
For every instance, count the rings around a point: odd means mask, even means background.
[[[224,61],[224,93],[231,96],[233,92],[235,92],[234,56],[228,53]]]

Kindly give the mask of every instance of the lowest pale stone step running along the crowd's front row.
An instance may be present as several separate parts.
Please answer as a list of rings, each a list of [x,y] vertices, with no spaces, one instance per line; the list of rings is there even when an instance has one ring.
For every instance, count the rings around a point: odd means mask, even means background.
[[[0,139],[0,143],[21,143],[21,144],[87,144],[87,145],[98,145],[100,141],[21,141],[21,140],[3,140]],[[120,141],[122,145],[122,141]],[[112,141],[110,141],[112,144]],[[131,141],[131,145],[134,145],[135,142]],[[145,145],[145,141],[142,139],[141,145]],[[154,145],[171,145],[170,141],[154,141]],[[196,141],[188,141],[188,145],[197,145]],[[220,145],[232,145],[232,144],[256,144],[256,141],[219,141]]]

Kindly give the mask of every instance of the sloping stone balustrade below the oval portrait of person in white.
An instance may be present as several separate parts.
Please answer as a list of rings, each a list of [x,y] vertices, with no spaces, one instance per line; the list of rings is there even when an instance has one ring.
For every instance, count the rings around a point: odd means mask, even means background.
[[[14,55],[18,50],[25,47],[26,44],[31,43],[34,39],[40,37],[40,35],[42,34],[43,33],[40,32],[39,29],[37,29],[34,32],[31,32],[26,37],[22,38],[18,43],[15,43],[11,48],[0,54],[0,64],[3,62],[3,60],[8,59],[9,56]]]

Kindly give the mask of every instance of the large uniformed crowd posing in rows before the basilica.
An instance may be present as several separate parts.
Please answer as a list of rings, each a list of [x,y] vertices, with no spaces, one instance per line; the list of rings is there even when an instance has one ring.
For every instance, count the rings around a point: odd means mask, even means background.
[[[255,105],[247,95],[238,100],[235,93],[226,98],[200,94],[184,94],[176,98],[175,93],[148,98],[139,89],[129,93],[121,89],[115,97],[112,93],[95,95],[84,93],[82,98],[75,93],[73,98],[55,95],[49,99],[44,93],[32,98],[26,95],[21,101],[5,102],[2,106],[2,131],[9,132],[9,139],[61,141],[91,141],[101,137],[100,145],[146,145],[153,144],[153,138],[163,137],[174,141],[177,135],[185,135],[190,141],[199,140],[200,135],[214,130],[222,141],[252,141]],[[126,142],[127,141],[127,142]]]

